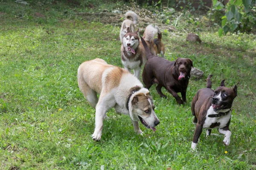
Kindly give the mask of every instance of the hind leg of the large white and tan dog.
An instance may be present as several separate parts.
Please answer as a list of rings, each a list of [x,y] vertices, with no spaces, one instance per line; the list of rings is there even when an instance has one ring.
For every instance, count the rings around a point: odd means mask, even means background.
[[[84,94],[84,97],[87,99],[88,103],[92,108],[95,108],[98,103],[98,97],[96,91],[93,91],[89,85],[83,80],[78,79],[78,85],[80,91]]]

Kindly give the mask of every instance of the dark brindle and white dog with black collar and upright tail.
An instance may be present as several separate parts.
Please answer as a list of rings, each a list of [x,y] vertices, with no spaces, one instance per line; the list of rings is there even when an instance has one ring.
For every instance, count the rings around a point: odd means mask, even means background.
[[[225,145],[230,144],[231,131],[229,130],[231,107],[237,96],[237,86],[226,88],[224,80],[215,91],[211,89],[212,75],[207,78],[207,88],[198,90],[191,104],[192,115],[195,116],[195,133],[191,148],[195,150],[199,136],[203,128],[207,128],[207,136],[213,128],[218,128],[219,133],[224,134]]]

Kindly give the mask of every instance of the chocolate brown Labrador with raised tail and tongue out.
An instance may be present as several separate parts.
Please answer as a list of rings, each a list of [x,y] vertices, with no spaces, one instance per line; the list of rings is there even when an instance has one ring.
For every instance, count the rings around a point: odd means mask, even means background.
[[[142,38],[141,38],[142,39]],[[142,42],[145,42],[142,40]],[[186,102],[186,88],[189,84],[190,71],[193,67],[193,62],[188,58],[178,58],[176,61],[169,61],[162,57],[153,56],[148,50],[148,46],[143,43],[147,55],[147,62],[145,63],[142,79],[146,88],[157,83],[157,92],[161,97],[166,97],[161,91],[161,88],[166,88],[172,96],[175,97],[179,104]],[[186,72],[185,79],[178,80],[179,71]],[[178,96],[181,93],[182,99]]]

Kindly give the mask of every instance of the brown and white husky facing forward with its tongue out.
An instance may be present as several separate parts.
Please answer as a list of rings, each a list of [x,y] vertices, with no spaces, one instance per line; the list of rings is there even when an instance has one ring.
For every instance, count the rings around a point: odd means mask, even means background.
[[[141,66],[145,64],[147,58],[145,56],[145,49],[139,39],[139,29],[136,32],[131,32],[130,28],[127,29],[127,33],[123,38],[121,45],[121,59],[125,69],[131,71],[134,70],[134,75],[140,79]],[[157,33],[157,29],[151,24],[148,25],[144,31],[143,38],[146,41],[152,54],[156,54],[154,50],[154,35]]]

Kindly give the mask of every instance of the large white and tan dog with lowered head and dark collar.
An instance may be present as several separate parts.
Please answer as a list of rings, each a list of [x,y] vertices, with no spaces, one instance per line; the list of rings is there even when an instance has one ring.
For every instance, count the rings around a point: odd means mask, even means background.
[[[78,85],[91,107],[96,108],[93,140],[101,139],[103,119],[111,108],[130,116],[138,134],[143,133],[139,121],[156,130],[159,119],[148,89],[125,69],[108,65],[99,58],[83,62],[78,68]],[[99,99],[97,94],[100,94]]]

